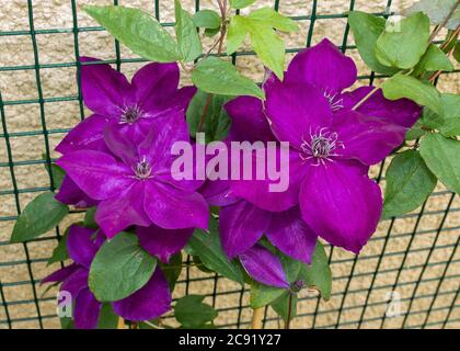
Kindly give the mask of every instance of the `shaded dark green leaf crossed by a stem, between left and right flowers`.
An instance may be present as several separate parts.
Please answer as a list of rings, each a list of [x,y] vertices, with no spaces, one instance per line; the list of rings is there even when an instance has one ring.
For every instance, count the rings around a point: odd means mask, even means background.
[[[231,122],[223,109],[229,98],[212,94],[200,126],[208,95],[209,93],[198,90],[192,99],[186,113],[191,136],[195,137],[198,128],[202,127],[199,132],[205,133],[206,143],[225,139]]]

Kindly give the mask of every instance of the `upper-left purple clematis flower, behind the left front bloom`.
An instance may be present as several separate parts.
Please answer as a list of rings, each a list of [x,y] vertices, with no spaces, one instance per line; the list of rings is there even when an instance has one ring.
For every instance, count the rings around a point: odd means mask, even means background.
[[[107,125],[137,139],[146,136],[150,123],[168,118],[174,111],[184,112],[195,87],[177,89],[179,67],[174,64],[149,64],[139,69],[129,83],[127,78],[91,57],[81,63],[81,89],[84,104],[93,112],[56,147],[61,154],[79,149],[106,150],[103,131]]]

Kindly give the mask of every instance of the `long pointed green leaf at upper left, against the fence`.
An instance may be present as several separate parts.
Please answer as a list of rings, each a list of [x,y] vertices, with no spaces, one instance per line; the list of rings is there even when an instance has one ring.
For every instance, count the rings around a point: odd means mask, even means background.
[[[157,63],[181,58],[174,38],[147,12],[117,5],[83,9],[133,53]]]

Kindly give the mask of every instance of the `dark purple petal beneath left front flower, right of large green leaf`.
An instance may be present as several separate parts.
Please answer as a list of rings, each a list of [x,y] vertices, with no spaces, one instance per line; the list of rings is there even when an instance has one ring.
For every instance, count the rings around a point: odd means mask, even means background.
[[[172,254],[182,250],[193,231],[194,228],[163,229],[154,224],[136,227],[140,246],[151,256],[158,256],[163,263],[168,263]]]

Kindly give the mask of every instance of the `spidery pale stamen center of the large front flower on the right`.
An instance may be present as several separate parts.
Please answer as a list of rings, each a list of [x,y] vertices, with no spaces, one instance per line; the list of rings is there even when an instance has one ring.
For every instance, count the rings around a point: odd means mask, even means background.
[[[314,134],[310,133],[310,140],[303,139],[300,145],[300,158],[303,161],[317,159],[314,166],[324,165],[325,161],[333,161],[332,157],[340,156],[336,154],[337,148],[345,148],[344,144],[338,140],[335,132],[329,132],[327,128],[319,128]]]

